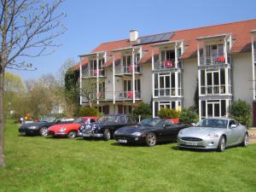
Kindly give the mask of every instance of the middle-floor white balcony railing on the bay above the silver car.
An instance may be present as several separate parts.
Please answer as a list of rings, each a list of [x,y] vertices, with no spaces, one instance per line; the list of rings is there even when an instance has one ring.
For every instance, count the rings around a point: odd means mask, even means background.
[[[207,85],[201,86],[201,95],[224,95],[231,93],[231,86],[228,86],[228,90],[224,84],[220,85]]]

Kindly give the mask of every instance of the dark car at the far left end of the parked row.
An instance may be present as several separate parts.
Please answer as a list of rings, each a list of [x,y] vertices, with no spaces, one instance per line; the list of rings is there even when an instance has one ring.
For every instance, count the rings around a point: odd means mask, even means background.
[[[20,135],[22,136],[46,136],[49,126],[56,124],[70,124],[73,119],[57,119],[55,117],[46,117],[35,123],[22,124],[19,128]]]

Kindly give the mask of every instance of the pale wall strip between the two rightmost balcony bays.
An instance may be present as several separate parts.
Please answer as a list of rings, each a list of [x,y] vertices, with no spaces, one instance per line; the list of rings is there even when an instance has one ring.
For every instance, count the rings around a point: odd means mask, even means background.
[[[188,59],[183,61],[183,108],[189,108],[194,105],[194,96],[197,86],[198,76],[197,59]]]

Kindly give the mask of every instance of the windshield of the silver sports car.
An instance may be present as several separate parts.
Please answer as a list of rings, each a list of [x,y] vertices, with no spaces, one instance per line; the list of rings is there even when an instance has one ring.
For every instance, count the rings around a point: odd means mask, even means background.
[[[227,128],[227,125],[226,119],[202,119],[195,127]]]

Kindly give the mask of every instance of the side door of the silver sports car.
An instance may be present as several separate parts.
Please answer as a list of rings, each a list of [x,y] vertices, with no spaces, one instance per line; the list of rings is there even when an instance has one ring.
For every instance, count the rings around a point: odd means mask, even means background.
[[[236,127],[232,127],[231,125],[236,125]],[[235,143],[239,142],[239,139],[241,137],[241,129],[239,126],[236,124],[236,121],[231,119],[229,122],[229,129],[228,129],[228,137],[227,137],[227,144],[228,145],[233,145]]]

